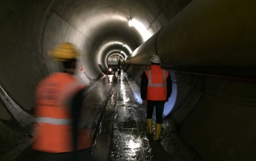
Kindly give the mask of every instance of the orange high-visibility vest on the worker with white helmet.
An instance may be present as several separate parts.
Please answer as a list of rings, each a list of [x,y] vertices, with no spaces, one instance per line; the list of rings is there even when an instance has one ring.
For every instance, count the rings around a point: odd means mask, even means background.
[[[159,65],[151,65],[146,70],[148,79],[146,100],[167,100],[166,78],[168,71],[162,69]]]

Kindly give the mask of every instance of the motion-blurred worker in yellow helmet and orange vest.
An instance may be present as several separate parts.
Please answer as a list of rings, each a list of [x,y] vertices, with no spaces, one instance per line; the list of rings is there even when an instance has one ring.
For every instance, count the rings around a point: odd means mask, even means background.
[[[36,90],[34,160],[93,160],[92,137],[78,128],[86,85],[73,76],[79,56],[74,45],[64,42],[50,51],[62,62],[60,73],[44,78]]]

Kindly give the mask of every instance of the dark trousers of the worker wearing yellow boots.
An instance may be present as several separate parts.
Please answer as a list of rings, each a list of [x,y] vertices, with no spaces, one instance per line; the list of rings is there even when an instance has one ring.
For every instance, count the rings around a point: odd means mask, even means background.
[[[157,124],[162,124],[162,112],[165,103],[166,101],[162,100],[147,100],[146,119],[152,119],[153,109],[155,106],[156,122]]]

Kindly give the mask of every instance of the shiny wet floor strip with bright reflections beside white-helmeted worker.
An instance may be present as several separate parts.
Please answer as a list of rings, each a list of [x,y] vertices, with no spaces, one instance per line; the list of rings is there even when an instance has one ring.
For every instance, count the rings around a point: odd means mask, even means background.
[[[117,85],[114,130],[110,147],[110,161],[115,160],[170,160],[154,137],[146,136],[146,108],[130,87],[126,73]]]

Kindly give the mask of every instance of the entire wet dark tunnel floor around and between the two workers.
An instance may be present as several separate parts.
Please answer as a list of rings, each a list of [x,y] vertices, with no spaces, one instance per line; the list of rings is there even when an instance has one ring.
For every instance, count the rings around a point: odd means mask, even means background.
[[[99,81],[87,92],[84,106],[83,125],[94,133],[95,160],[202,160],[178,134],[170,116],[163,120],[160,142],[146,135],[146,107],[138,85],[126,73]],[[33,160],[34,155],[36,151],[27,147],[14,161]]]

